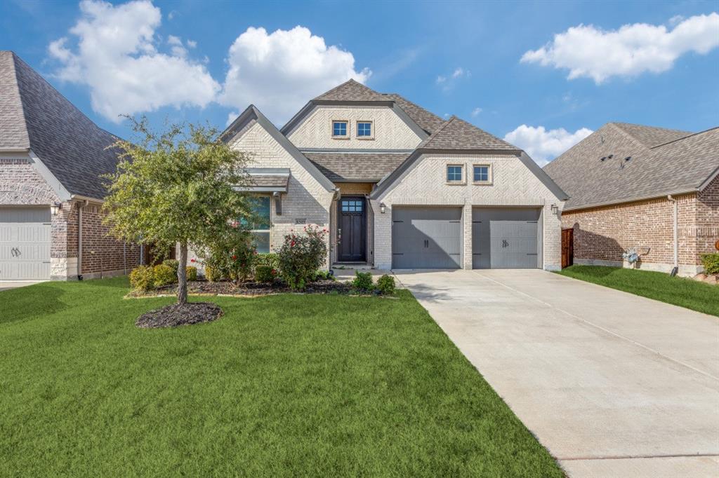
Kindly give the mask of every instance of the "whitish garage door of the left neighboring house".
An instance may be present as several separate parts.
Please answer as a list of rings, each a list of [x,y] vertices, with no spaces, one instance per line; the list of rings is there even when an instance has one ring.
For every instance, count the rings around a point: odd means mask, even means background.
[[[0,207],[0,281],[50,279],[50,207]]]

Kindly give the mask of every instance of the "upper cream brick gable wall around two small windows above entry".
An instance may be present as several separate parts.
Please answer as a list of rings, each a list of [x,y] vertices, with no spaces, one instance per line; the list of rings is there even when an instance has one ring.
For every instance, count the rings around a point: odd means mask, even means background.
[[[348,139],[332,138],[335,120],[348,122]],[[357,121],[372,121],[374,139],[357,138]],[[388,106],[316,106],[288,139],[299,149],[415,149],[422,141]]]

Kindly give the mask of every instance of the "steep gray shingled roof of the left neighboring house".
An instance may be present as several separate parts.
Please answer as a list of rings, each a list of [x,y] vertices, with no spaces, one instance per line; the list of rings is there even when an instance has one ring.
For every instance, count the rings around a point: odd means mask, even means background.
[[[99,176],[113,172],[117,164],[117,152],[105,148],[117,138],[13,52],[0,52],[0,68],[1,147],[29,146],[70,193],[103,198]]]

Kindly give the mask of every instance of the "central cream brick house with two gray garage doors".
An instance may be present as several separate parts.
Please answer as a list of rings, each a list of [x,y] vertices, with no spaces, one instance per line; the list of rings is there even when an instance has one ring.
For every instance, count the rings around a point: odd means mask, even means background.
[[[400,95],[349,80],[281,129],[249,106],[221,139],[251,157],[260,250],[316,224],[328,263],[559,268],[562,189],[516,146]]]

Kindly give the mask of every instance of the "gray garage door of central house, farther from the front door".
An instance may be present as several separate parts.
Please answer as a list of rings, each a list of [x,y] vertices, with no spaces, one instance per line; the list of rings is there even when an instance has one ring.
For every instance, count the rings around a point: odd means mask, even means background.
[[[472,210],[472,267],[541,267],[540,212],[521,207]]]

